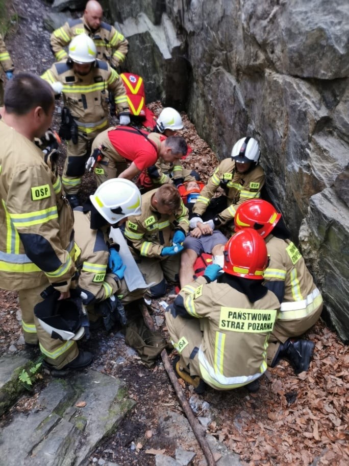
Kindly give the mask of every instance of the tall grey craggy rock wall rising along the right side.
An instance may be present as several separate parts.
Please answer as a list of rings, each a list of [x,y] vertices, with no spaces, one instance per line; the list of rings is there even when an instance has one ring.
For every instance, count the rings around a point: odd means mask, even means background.
[[[130,41],[126,66],[152,100],[187,111],[218,159],[245,134],[259,140],[268,194],[349,341],[349,4],[109,0],[109,12]]]

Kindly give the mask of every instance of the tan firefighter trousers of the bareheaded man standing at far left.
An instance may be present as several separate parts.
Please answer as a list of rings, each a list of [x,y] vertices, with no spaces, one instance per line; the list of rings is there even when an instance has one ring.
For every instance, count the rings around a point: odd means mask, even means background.
[[[45,285],[18,292],[19,306],[22,311],[24,341],[32,344],[39,341],[40,351],[45,356],[45,361],[56,369],[61,369],[78,356],[79,349],[76,341],[61,341],[51,338],[41,328],[34,315],[34,306],[42,301],[40,293],[48,285],[49,283],[47,282]]]

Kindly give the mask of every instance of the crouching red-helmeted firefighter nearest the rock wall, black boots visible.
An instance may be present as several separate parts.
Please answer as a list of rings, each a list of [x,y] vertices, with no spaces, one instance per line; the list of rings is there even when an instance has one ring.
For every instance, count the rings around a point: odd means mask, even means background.
[[[270,264],[264,272],[265,286],[281,302],[279,320],[269,338],[268,364],[281,358],[290,361],[295,374],[308,370],[314,342],[293,340],[309,330],[322,311],[322,296],[302,254],[290,240],[290,233],[269,202],[253,199],[237,208],[235,230],[254,228],[265,239]]]

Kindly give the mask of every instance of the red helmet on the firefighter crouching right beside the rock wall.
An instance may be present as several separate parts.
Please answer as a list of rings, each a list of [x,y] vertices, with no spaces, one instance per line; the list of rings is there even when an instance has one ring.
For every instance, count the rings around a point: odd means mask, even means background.
[[[270,202],[263,199],[250,199],[236,209],[234,223],[235,231],[242,228],[253,228],[265,238],[281,218]]]

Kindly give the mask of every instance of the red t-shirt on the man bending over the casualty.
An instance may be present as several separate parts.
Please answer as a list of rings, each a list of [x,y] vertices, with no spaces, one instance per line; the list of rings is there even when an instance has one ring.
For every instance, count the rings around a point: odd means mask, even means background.
[[[117,126],[108,131],[109,141],[121,157],[132,160],[138,170],[154,165],[158,159],[162,134],[147,133],[129,126]]]

